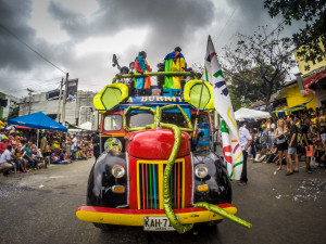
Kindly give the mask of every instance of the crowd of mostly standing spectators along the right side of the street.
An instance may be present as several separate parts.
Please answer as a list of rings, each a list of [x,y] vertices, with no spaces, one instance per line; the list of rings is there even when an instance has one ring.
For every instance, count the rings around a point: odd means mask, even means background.
[[[248,124],[252,143],[249,154],[254,163],[274,163],[277,170],[286,165],[287,175],[299,171],[299,160],[326,166],[326,104],[317,110],[304,108],[273,121],[271,118]],[[292,164],[293,163],[293,164]]]

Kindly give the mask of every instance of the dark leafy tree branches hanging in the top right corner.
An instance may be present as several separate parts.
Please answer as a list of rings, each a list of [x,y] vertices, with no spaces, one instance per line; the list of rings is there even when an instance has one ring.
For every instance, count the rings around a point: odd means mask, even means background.
[[[265,0],[264,7],[271,17],[281,14],[287,25],[293,21],[305,23],[304,28],[292,36],[297,49],[301,47],[298,52],[301,60],[308,62],[318,55],[326,56],[326,0]]]

